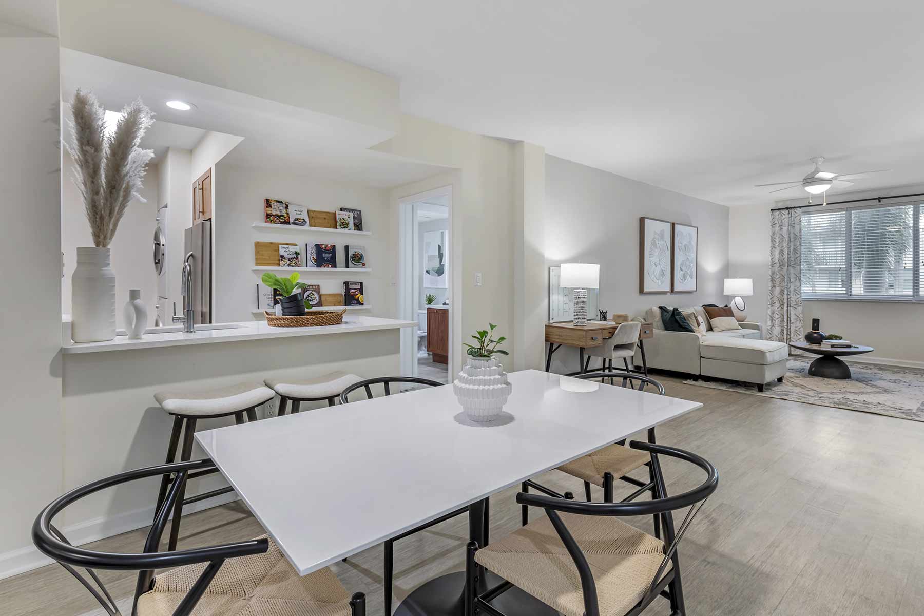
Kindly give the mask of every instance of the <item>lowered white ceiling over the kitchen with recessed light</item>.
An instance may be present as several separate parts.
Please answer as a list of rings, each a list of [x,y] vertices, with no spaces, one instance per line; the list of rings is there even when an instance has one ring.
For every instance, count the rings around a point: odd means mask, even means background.
[[[431,164],[367,150],[392,136],[386,131],[62,49],[62,98],[69,101],[77,88],[92,91],[106,109],[114,111],[140,97],[156,114],[154,125],[142,141],[155,154],[168,146],[191,148],[205,131],[212,130],[244,138],[223,161],[249,168],[371,187],[400,186],[444,171]],[[176,111],[165,104],[174,99],[197,107]]]

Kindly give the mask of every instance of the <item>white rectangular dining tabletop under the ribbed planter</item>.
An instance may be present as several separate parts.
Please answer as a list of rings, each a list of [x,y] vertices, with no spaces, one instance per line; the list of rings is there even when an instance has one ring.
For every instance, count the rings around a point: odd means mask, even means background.
[[[447,385],[196,440],[305,575],[701,406],[540,370],[509,380],[504,414],[487,424]]]

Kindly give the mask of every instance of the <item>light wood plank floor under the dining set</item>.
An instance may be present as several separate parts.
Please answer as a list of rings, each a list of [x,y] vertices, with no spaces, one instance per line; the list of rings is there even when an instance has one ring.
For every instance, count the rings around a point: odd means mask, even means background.
[[[660,427],[659,441],[701,453],[720,471],[719,489],[680,549],[689,614],[924,613],[924,424],[663,381],[669,395],[705,406]],[[682,464],[664,470],[674,493],[701,475]],[[579,481],[557,471],[541,481],[581,494]],[[492,537],[519,525],[515,492],[492,497]],[[650,529],[648,519],[637,524]],[[184,518],[181,543],[261,533],[243,505],[231,503]],[[395,544],[395,605],[433,576],[463,568],[466,533],[462,517]],[[94,547],[134,550],[141,537],[135,531]],[[381,546],[333,569],[348,590],[369,595],[371,616],[383,614]],[[130,574],[103,579],[116,598],[133,590]],[[0,582],[0,606],[10,616],[97,607],[56,565]],[[670,610],[659,599],[646,613]]]

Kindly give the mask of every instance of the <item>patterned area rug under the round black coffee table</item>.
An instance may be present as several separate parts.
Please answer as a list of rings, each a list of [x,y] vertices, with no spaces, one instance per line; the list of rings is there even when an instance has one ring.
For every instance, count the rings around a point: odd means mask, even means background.
[[[851,411],[876,413],[924,421],[924,371],[850,362],[853,379],[821,379],[808,376],[810,360],[790,357],[782,383],[775,380],[763,393],[751,383],[724,380],[685,380],[688,385],[729,392],[751,393],[768,398],[833,406]]]

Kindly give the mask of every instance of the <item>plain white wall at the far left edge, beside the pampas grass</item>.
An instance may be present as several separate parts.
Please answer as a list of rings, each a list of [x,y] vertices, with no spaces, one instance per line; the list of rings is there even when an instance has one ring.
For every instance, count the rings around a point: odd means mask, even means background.
[[[15,32],[0,34],[0,81],[11,86],[0,98],[0,575],[30,566],[30,526],[61,493],[64,455],[58,42],[28,30],[43,27],[55,2],[15,8],[17,28],[5,28],[0,9],[0,32]]]

